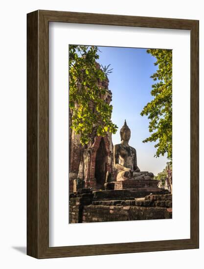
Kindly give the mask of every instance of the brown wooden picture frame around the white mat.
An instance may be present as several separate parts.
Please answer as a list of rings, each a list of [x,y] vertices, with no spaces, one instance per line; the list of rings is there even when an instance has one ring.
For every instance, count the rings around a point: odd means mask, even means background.
[[[49,247],[49,22],[190,30],[190,239]],[[199,21],[46,10],[27,14],[27,255],[35,258],[57,258],[198,247]]]

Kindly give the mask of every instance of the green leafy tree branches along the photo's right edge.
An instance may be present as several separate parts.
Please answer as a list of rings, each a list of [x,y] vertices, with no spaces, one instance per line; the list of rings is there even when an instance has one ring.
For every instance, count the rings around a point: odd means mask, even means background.
[[[172,50],[147,49],[147,53],[157,59],[154,65],[158,70],[151,76],[157,81],[152,85],[154,99],[141,112],[150,119],[149,132],[152,134],[142,142],[156,142],[155,157],[167,153],[167,158],[172,159]]]

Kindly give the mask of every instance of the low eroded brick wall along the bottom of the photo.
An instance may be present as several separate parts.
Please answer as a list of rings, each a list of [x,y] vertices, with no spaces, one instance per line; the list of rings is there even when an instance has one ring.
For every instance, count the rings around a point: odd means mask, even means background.
[[[172,218],[172,195],[159,194],[140,197],[140,193],[118,192],[118,197],[107,200],[112,192],[106,196],[99,196],[102,192],[89,192],[72,195],[69,206],[69,223],[112,222],[155,220]],[[114,191],[115,193],[115,191]],[[112,195],[113,196],[113,195]],[[126,196],[126,199],[124,200]],[[123,197],[123,200],[122,200]],[[128,198],[129,197],[129,198]]]

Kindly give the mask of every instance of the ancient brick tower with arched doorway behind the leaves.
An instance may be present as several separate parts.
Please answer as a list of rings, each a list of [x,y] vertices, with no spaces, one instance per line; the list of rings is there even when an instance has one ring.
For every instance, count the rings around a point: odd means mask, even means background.
[[[97,64],[100,68],[100,65]],[[108,78],[99,81],[98,86],[106,90],[102,98],[110,104],[112,92],[108,89]],[[81,145],[80,134],[71,128],[71,113],[69,112],[69,193],[73,192],[73,180],[82,179],[86,187],[104,189],[107,171],[113,174],[113,142],[112,134],[97,136],[92,134],[88,145]]]

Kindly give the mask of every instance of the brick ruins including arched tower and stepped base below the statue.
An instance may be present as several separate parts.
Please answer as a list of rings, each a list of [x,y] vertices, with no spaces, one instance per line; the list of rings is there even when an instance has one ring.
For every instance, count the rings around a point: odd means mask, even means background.
[[[98,85],[110,104],[108,78]],[[172,218],[171,192],[159,188],[158,180],[115,181],[111,133],[102,137],[93,132],[91,142],[83,146],[70,125],[69,111],[69,223]]]

